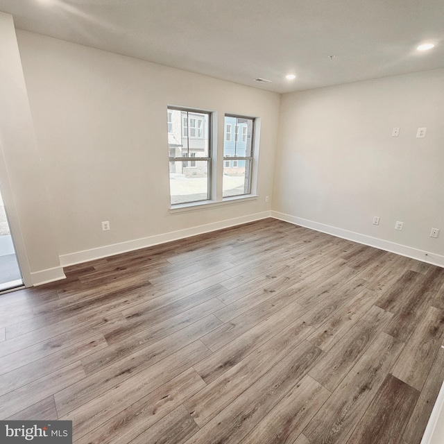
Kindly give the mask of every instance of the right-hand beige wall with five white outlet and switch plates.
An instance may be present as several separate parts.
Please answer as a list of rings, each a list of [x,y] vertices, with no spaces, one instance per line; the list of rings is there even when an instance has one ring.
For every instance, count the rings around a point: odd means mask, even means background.
[[[284,94],[273,214],[444,266],[443,116],[444,70]]]

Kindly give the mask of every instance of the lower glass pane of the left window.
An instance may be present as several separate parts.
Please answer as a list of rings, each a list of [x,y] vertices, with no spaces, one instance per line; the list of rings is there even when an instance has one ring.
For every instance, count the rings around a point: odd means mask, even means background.
[[[183,164],[187,164],[184,167]],[[191,167],[190,164],[194,164]],[[208,162],[170,162],[169,183],[171,205],[208,199]]]

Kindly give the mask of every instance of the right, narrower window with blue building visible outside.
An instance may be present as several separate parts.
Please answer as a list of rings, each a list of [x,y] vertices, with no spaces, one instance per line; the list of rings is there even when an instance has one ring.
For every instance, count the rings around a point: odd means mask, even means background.
[[[250,194],[255,119],[226,114],[225,128],[228,125],[234,126],[234,142],[228,141],[225,136],[222,195],[232,197]],[[241,138],[239,138],[239,128],[241,128]]]

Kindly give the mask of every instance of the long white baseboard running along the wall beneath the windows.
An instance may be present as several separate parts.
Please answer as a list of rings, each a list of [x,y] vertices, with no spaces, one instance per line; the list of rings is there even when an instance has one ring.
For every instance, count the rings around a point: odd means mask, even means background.
[[[69,266],[81,264],[83,262],[92,261],[94,259],[101,259],[128,251],[139,250],[139,248],[151,247],[165,242],[177,241],[186,237],[196,236],[196,234],[204,234],[223,228],[230,228],[235,225],[243,223],[259,221],[270,217],[270,212],[261,212],[256,214],[249,214],[248,216],[241,216],[234,219],[227,219],[225,221],[208,223],[206,225],[198,225],[197,227],[186,228],[185,230],[178,230],[164,234],[157,234],[155,236],[144,237],[142,239],[135,239],[133,241],[121,242],[120,244],[112,244],[99,248],[92,248],[91,250],[78,251],[76,253],[69,253],[60,256],[60,264],[62,266]]]

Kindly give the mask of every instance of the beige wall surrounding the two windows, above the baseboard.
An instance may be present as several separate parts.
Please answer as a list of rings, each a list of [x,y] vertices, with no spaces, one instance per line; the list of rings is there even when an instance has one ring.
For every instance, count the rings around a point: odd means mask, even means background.
[[[25,31],[17,39],[60,255],[269,214],[279,94]],[[219,183],[224,114],[260,118],[257,199],[170,212],[167,105],[215,113]]]

